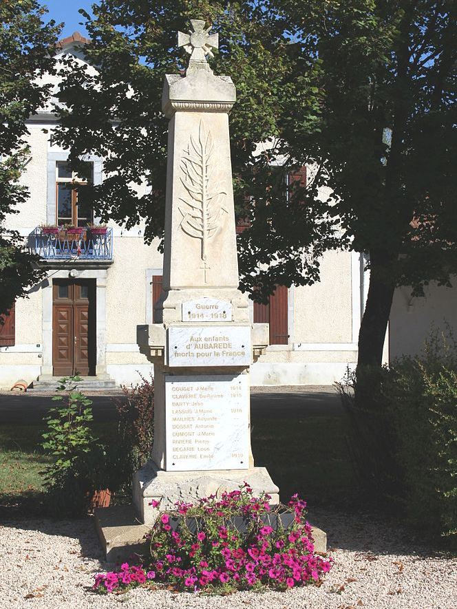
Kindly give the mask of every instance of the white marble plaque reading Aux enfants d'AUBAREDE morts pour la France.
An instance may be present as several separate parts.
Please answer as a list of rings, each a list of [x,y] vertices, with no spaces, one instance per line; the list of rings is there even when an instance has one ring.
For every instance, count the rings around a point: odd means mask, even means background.
[[[171,325],[167,363],[171,367],[248,366],[251,328],[248,325]]]

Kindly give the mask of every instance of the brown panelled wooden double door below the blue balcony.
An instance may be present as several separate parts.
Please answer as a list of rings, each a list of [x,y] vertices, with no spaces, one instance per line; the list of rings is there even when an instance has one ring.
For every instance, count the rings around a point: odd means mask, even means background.
[[[54,376],[94,376],[96,280],[54,279],[52,290]]]

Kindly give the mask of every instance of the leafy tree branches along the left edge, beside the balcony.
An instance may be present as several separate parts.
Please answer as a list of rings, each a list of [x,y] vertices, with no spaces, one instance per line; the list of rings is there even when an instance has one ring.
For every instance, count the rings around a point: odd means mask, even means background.
[[[50,94],[51,85],[39,77],[53,72],[60,26],[43,23],[45,12],[36,0],[0,5],[0,314],[45,274],[34,265],[38,258],[28,253],[19,232],[6,228],[8,215],[28,197],[19,182],[29,152],[25,121]]]

